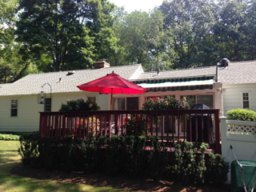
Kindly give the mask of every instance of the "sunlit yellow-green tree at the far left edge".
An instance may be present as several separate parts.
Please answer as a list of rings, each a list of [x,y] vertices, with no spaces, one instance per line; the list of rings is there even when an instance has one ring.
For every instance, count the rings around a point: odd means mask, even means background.
[[[16,0],[0,1],[0,83],[13,82],[31,72],[37,72],[30,59],[24,61],[14,42]]]

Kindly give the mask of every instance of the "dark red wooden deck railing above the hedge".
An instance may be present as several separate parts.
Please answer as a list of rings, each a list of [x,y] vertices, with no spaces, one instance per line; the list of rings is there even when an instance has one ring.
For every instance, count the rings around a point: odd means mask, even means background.
[[[98,110],[41,112],[42,136],[74,135],[98,138],[102,135],[145,134],[166,140],[207,142],[221,152],[219,110]]]

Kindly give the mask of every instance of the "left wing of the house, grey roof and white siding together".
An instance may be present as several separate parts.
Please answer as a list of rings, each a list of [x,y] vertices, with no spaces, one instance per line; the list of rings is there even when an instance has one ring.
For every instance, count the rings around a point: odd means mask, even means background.
[[[104,62],[96,63],[93,70],[29,74],[17,82],[0,85],[0,132],[38,130],[38,112],[58,111],[67,99],[90,98],[96,101],[102,110],[108,110],[108,94],[84,92],[78,90],[77,86],[101,78],[112,71],[126,79],[136,79],[143,72],[141,65],[102,67],[100,64]]]

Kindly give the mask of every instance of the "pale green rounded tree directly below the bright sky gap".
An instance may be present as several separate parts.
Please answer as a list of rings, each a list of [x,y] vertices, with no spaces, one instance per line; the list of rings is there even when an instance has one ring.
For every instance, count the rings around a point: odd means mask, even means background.
[[[150,13],[134,11],[131,14],[118,10],[114,32],[118,39],[118,51],[112,57],[115,64],[142,63],[145,70],[155,61],[162,61],[161,44],[163,16],[159,10]],[[168,66],[168,64],[166,64]]]

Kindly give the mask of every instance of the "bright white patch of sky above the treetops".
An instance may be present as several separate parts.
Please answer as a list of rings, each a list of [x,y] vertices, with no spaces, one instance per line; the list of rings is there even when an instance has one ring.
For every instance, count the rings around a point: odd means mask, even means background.
[[[160,6],[163,0],[109,0],[117,6],[124,6],[125,10],[130,13],[134,10],[148,12],[155,6]]]

